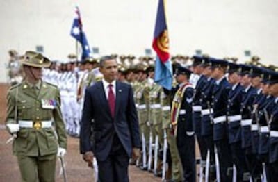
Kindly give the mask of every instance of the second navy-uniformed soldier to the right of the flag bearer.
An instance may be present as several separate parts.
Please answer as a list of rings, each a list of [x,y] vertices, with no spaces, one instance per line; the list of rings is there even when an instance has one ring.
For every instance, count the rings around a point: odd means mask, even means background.
[[[206,76],[202,93],[200,96],[201,111],[201,135],[206,144],[206,179],[215,179],[215,154],[213,144],[213,109],[212,109],[212,92],[215,79],[211,77],[211,60],[213,58],[204,58],[202,66],[204,67],[203,75]],[[209,154],[208,154],[209,152]],[[211,167],[210,167],[211,166]],[[209,172],[209,175],[208,175]],[[202,174],[202,173],[200,173]],[[201,176],[201,175],[200,175]]]

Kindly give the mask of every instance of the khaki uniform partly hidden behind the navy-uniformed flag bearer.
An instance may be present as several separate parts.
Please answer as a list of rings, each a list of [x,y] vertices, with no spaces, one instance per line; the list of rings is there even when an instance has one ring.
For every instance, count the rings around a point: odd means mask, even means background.
[[[163,89],[160,90],[161,108],[162,108],[162,128],[166,130],[168,147],[171,153],[172,160],[172,179],[174,181],[183,181],[183,167],[181,164],[181,158],[177,148],[177,141],[172,134],[171,129],[171,110],[170,105],[172,102],[171,94],[166,95]],[[186,133],[185,133],[186,134]]]

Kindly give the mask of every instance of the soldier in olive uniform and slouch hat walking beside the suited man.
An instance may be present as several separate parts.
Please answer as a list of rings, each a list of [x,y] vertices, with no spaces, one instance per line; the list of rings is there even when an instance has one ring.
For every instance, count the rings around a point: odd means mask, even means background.
[[[56,156],[63,157],[67,149],[59,90],[41,79],[49,59],[26,51],[20,62],[24,81],[10,88],[7,97],[6,128],[14,138],[13,154],[22,181],[55,181]]]

